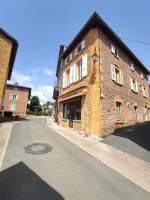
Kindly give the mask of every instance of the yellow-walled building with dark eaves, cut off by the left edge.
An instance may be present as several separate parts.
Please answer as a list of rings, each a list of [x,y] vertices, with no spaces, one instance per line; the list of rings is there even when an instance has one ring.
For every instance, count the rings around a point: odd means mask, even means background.
[[[11,78],[17,48],[17,40],[0,28],[0,115],[3,110],[6,81]]]

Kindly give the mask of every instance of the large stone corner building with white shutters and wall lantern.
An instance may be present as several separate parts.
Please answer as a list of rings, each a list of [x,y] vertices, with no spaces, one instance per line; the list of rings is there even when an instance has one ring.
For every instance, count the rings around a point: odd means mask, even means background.
[[[94,13],[57,64],[58,124],[102,136],[150,118],[149,70]]]

